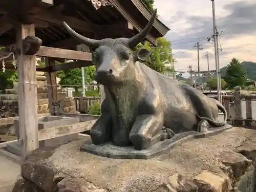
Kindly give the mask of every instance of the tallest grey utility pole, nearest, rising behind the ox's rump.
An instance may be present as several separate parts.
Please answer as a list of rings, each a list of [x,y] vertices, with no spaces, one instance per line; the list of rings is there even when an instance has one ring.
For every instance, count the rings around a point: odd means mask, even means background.
[[[218,48],[218,30],[216,26],[216,17],[215,17],[215,2],[210,0],[212,5],[212,23],[214,27],[214,51],[215,51],[215,64],[216,64],[216,73],[217,73],[217,95],[219,102],[222,103],[221,99],[221,79],[220,79],[220,64],[219,64],[219,48]]]

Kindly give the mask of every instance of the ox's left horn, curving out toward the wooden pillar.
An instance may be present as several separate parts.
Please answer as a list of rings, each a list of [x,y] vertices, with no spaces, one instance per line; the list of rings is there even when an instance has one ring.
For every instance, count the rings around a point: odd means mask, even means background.
[[[100,46],[100,40],[90,39],[90,38],[87,38],[87,37],[84,37],[84,36],[78,34],[73,29],[71,29],[71,27],[69,27],[69,25],[66,22],[63,22],[63,25],[71,36],[73,36],[74,38],[76,38],[79,41],[82,41],[88,47],[96,49]]]

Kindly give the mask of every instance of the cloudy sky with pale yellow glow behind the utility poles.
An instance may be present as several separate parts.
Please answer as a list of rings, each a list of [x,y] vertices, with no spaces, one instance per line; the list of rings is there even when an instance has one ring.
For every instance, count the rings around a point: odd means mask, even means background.
[[[214,45],[207,42],[212,32],[210,0],[155,0],[160,20],[168,26],[165,37],[172,41],[177,70],[191,65],[197,70],[197,51],[193,46],[199,39],[200,70],[215,70]],[[233,57],[256,62],[256,0],[215,0],[216,21],[220,44],[220,67],[228,65]]]

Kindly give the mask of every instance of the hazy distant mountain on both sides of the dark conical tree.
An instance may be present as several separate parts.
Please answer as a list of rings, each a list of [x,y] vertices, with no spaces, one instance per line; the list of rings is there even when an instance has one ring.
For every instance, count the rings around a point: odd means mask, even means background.
[[[256,62],[244,61],[241,63],[246,72],[246,77],[256,81]],[[220,69],[221,77],[224,77],[227,71],[227,66]]]

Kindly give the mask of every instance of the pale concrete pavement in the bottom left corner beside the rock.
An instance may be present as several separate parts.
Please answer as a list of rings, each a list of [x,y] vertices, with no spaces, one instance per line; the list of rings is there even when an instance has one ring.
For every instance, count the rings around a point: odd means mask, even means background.
[[[20,165],[4,156],[0,156],[0,191],[11,192],[18,175]]]

